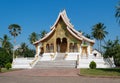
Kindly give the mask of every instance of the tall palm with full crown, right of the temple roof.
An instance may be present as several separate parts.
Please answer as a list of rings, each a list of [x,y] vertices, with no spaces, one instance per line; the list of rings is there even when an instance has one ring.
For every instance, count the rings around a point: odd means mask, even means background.
[[[92,36],[99,41],[98,50],[101,52],[101,41],[104,40],[106,35],[108,34],[107,31],[105,31],[106,26],[104,26],[103,23],[98,23],[93,26],[92,28]]]

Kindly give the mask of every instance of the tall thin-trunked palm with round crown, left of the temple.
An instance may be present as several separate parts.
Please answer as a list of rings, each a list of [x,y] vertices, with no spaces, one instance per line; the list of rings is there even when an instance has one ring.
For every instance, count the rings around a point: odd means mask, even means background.
[[[18,24],[11,24],[8,27],[10,34],[14,37],[14,44],[16,43],[16,37],[21,34],[21,27]],[[13,59],[14,59],[14,50],[13,50]]]

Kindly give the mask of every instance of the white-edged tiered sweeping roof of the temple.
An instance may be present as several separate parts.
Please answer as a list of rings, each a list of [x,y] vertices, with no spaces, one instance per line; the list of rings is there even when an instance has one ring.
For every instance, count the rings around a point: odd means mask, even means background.
[[[67,25],[67,30],[78,40],[85,40],[91,43],[95,43],[94,40],[88,39],[87,37],[83,36],[81,32],[78,32],[77,30],[74,29],[74,26],[70,23],[70,20],[67,17],[66,11],[63,10],[62,12],[59,13],[57,20],[55,21],[54,25],[50,28],[51,31],[49,33],[47,33],[45,35],[45,37],[43,37],[42,39],[34,42],[33,44],[37,44],[43,40],[45,40],[46,38],[48,38],[54,31],[55,31],[55,26],[58,23],[58,21],[60,20],[60,17],[62,18],[62,20],[64,21],[64,23]]]

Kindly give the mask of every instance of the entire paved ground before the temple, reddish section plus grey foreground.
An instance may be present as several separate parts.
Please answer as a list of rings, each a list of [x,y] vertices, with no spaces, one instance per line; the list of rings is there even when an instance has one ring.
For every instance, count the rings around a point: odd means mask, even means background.
[[[29,69],[0,73],[0,83],[120,83],[119,78],[78,75],[78,69]]]

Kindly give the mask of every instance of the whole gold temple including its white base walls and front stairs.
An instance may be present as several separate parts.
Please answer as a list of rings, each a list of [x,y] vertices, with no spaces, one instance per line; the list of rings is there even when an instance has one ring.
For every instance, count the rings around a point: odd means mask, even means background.
[[[115,67],[112,59],[103,59],[99,51],[93,50],[94,40],[75,30],[65,10],[59,13],[50,29],[34,42],[35,57],[16,58],[12,68],[89,68],[91,61],[97,68]]]

